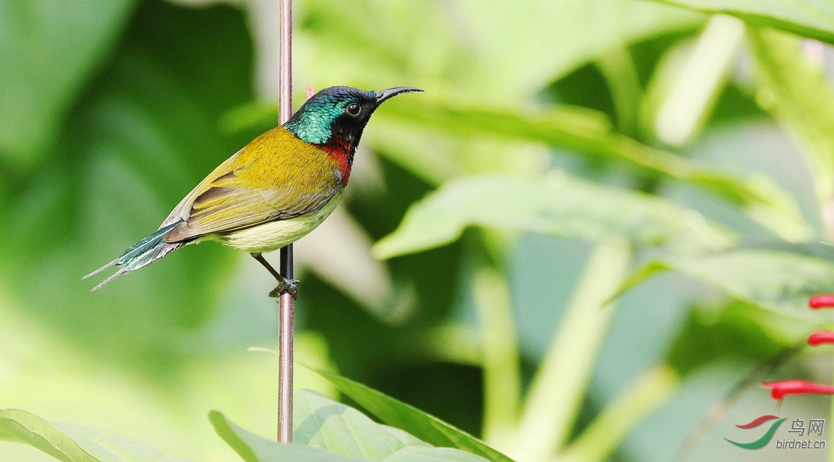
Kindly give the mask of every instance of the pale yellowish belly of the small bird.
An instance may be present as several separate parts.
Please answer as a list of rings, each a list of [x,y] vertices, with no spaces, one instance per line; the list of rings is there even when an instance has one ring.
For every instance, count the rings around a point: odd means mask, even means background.
[[[250,254],[272,252],[294,243],[314,230],[334,211],[341,198],[342,193],[339,192],[324,207],[311,215],[259,224],[233,233],[207,237],[234,249],[245,250]]]

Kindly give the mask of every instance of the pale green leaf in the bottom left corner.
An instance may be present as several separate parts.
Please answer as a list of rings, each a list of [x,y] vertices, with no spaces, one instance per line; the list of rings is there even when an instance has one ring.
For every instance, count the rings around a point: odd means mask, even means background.
[[[188,462],[78,425],[53,425],[21,409],[0,410],[0,439],[29,444],[62,462]]]

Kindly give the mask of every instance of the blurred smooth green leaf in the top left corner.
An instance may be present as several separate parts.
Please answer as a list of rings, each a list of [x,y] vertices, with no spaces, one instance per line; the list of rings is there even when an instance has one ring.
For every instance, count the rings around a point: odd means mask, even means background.
[[[0,2],[0,159],[33,163],[118,38],[134,0]]]

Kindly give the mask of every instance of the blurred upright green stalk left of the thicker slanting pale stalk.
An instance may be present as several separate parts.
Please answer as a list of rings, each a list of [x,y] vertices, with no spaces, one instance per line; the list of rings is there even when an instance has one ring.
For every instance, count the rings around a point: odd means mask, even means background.
[[[503,274],[484,265],[473,282],[484,370],[484,439],[497,446],[512,436],[521,395],[518,339],[510,289]]]

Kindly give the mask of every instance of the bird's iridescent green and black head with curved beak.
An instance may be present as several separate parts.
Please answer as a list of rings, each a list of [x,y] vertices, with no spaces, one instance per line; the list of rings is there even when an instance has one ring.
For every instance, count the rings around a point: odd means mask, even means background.
[[[309,98],[284,123],[284,128],[308,143],[326,144],[335,136],[355,148],[365,124],[379,104],[400,93],[422,91],[414,87],[394,87],[379,92],[351,87],[324,88]]]

